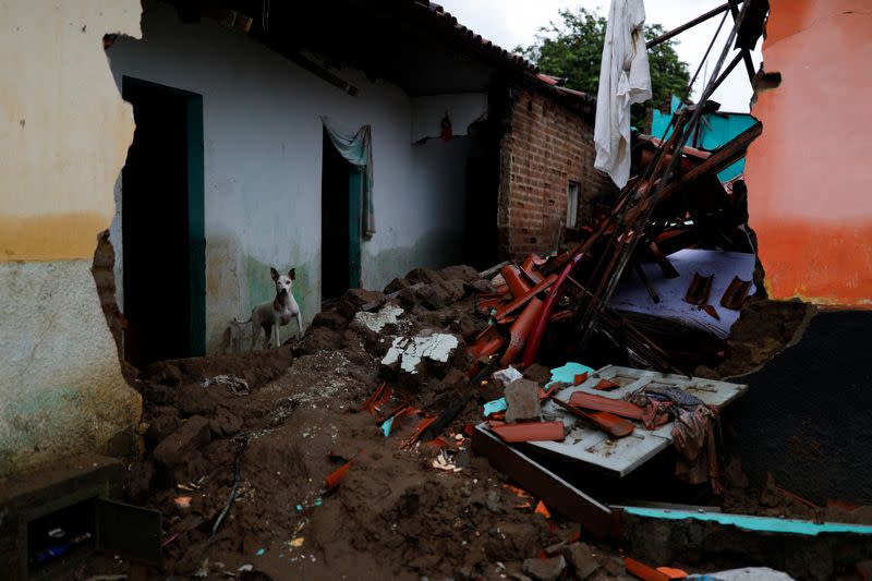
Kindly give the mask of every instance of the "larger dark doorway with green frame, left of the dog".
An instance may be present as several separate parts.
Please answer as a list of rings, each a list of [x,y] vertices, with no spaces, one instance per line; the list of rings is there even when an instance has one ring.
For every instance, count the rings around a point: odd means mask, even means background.
[[[121,175],[124,358],[205,352],[203,97],[123,77],[136,131]]]

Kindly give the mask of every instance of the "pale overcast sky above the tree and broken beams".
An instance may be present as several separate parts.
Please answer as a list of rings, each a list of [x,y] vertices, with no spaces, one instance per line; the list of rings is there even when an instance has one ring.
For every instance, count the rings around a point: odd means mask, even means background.
[[[608,0],[436,0],[437,3],[457,16],[464,25],[505,49],[518,45],[530,45],[535,40],[538,28],[557,20],[561,8],[584,7],[608,16]],[[717,8],[724,0],[647,0],[645,2],[646,22],[659,23],[668,31],[700,14]],[[720,22],[720,15],[708,20],[678,35],[678,56],[688,63],[690,74],[697,70],[705,48]],[[708,71],[714,68],[724,47],[732,19],[727,16],[718,41],[706,61]],[[754,69],[760,65],[760,43],[753,53]],[[729,55],[728,59],[732,55]],[[725,62],[728,63],[729,60]],[[705,66],[703,66],[703,72]],[[547,71],[544,71],[547,72]],[[702,73],[700,73],[702,77]],[[707,78],[707,77],[706,77]],[[694,85],[694,97],[699,95],[702,78]],[[722,111],[747,112],[751,99],[751,84],[744,66],[740,63],[712,97],[720,102]]]

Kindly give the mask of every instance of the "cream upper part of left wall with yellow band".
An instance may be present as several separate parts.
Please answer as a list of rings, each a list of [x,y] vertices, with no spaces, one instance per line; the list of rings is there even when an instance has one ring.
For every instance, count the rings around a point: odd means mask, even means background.
[[[134,126],[102,36],[138,37],[140,16],[140,0],[0,0],[0,262],[93,256]]]

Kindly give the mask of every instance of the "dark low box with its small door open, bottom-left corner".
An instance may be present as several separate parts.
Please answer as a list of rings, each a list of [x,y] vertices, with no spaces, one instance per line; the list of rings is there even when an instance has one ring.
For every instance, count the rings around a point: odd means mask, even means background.
[[[0,485],[0,571],[55,579],[96,550],[160,565],[160,512],[119,503],[124,467],[101,456],[56,462]]]

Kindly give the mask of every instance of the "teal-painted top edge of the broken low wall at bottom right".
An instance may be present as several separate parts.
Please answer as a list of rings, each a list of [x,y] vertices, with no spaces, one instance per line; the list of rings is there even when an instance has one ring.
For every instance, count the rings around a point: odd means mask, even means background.
[[[750,515],[728,515],[725,512],[691,512],[688,510],[667,510],[662,508],[614,507],[630,515],[649,519],[698,520],[738,526],[748,531],[765,533],[801,534],[818,536],[821,533],[872,534],[872,526],[865,524],[843,524],[838,522],[816,523],[804,520],[752,517]]]

